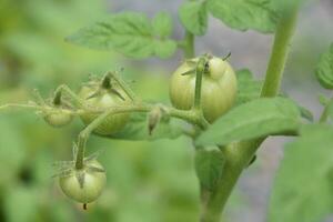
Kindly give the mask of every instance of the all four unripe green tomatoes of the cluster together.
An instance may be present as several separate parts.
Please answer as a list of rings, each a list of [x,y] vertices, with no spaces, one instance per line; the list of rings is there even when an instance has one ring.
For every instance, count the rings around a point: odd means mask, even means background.
[[[170,99],[176,109],[194,109],[195,84],[200,58],[183,62],[172,74],[170,81]],[[204,70],[201,81],[201,100],[199,109],[210,123],[223,115],[234,103],[236,95],[236,77],[228,61],[216,57],[205,57]],[[198,93],[198,92],[196,92]],[[99,110],[108,110],[117,107],[130,105],[133,101],[121,85],[113,84],[110,77],[99,81],[90,81],[84,84],[78,98],[80,108],[89,112],[82,112],[80,118],[84,125],[89,125],[100,117]],[[61,102],[59,94],[56,97],[52,108],[44,111],[44,120],[53,127],[62,127],[71,122],[72,114]],[[97,112],[93,112],[97,111]],[[149,133],[159,123],[165,111],[162,107],[155,107],[148,115]],[[93,132],[99,135],[111,135],[129,123],[130,113],[118,113],[105,119]],[[70,173],[59,176],[59,184],[63,193],[70,199],[83,203],[97,200],[105,186],[105,173],[102,165],[95,160],[83,161],[82,168],[71,165],[67,169]]]

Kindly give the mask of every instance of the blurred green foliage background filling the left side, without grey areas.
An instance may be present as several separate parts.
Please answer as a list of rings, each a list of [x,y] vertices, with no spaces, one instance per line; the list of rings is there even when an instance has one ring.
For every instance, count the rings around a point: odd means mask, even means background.
[[[0,101],[26,102],[61,83],[79,89],[89,73],[127,67],[127,79],[148,100],[168,102],[165,71],[138,69],[112,52],[71,46],[63,38],[108,12],[105,1],[1,1]],[[139,63],[138,63],[139,64]],[[52,129],[30,111],[0,115],[0,221],[195,221],[198,184],[191,141],[123,142],[91,137],[88,152],[104,150],[108,188],[82,212],[51,178],[52,162],[71,159],[82,124]]]

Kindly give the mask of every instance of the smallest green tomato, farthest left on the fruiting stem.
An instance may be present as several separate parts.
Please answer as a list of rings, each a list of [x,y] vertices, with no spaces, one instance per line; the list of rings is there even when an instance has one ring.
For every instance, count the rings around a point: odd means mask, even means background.
[[[64,127],[73,120],[73,115],[63,109],[54,108],[54,110],[44,113],[44,121],[54,128]]]

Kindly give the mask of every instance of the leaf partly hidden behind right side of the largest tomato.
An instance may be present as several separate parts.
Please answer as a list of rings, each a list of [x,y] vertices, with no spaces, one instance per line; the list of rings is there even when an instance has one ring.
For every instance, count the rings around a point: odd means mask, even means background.
[[[242,104],[260,97],[262,81],[255,80],[248,69],[236,71],[238,75],[238,98],[236,104]]]

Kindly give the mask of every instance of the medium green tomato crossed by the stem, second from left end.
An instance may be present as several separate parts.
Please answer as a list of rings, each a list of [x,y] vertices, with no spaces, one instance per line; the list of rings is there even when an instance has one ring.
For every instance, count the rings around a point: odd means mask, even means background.
[[[107,109],[111,107],[129,104],[131,101],[128,97],[120,97],[110,90],[101,90],[101,92],[94,97],[91,97],[98,87],[83,87],[79,93],[79,97],[84,100],[84,104],[88,109]],[[98,114],[82,114],[80,118],[85,125],[90,124]],[[94,133],[100,135],[111,135],[114,132],[120,131],[129,121],[129,113],[119,113],[108,117],[95,130]]]

